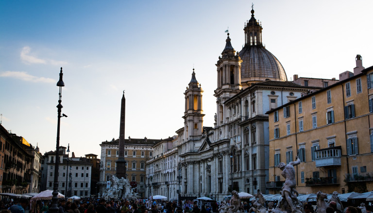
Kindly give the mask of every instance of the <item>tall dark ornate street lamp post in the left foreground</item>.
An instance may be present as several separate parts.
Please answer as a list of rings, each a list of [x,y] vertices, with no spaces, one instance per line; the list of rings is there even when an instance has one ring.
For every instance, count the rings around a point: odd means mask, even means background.
[[[65,87],[65,83],[62,80],[63,75],[64,74],[62,73],[62,67],[61,67],[60,80],[57,82],[57,87],[59,87],[59,93],[58,93],[59,99],[58,99],[58,105],[57,105],[57,112],[58,112],[58,116],[57,116],[57,141],[56,141],[56,162],[54,164],[54,183],[53,183],[53,193],[52,193],[53,197],[52,197],[51,208],[49,208],[51,213],[57,213],[58,212],[58,198],[57,198],[57,195],[58,195],[58,165],[60,163],[60,156],[59,156],[60,120],[61,120],[61,117],[68,117],[65,114],[62,114],[62,116],[61,116],[61,109],[63,107],[61,105],[61,102],[62,102],[61,91],[62,91],[62,87]]]

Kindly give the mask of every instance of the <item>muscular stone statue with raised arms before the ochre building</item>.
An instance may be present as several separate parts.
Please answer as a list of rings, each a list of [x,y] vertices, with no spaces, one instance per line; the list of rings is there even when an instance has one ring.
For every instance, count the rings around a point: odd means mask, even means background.
[[[274,212],[290,212],[290,213],[302,213],[303,205],[298,200],[298,192],[295,190],[297,184],[295,178],[294,166],[300,164],[301,161],[298,156],[295,157],[295,161],[288,164],[281,162],[278,167],[282,170],[281,175],[285,178],[284,186],[282,187],[281,200],[278,202]]]

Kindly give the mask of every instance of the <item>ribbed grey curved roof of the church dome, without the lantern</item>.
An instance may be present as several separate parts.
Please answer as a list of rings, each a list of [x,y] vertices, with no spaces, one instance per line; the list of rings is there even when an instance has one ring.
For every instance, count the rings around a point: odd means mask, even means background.
[[[239,52],[242,60],[241,78],[277,78],[280,81],[288,80],[284,67],[280,61],[262,45],[245,45]],[[251,79],[243,79],[250,81]]]

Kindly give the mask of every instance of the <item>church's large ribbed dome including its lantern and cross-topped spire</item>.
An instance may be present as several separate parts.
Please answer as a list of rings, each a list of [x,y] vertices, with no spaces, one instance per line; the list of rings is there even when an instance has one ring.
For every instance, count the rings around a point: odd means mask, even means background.
[[[242,82],[247,81],[287,81],[284,67],[280,61],[262,44],[262,26],[254,18],[245,23],[245,46],[239,52]]]

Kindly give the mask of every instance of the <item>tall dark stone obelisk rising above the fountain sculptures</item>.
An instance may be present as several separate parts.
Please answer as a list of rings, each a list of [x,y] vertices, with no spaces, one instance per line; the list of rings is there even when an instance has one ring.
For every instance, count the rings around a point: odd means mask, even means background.
[[[124,127],[126,118],[126,98],[124,91],[122,96],[122,103],[120,106],[120,127],[119,127],[119,158],[117,160],[117,177],[119,179],[126,178],[126,161],[124,159]]]

